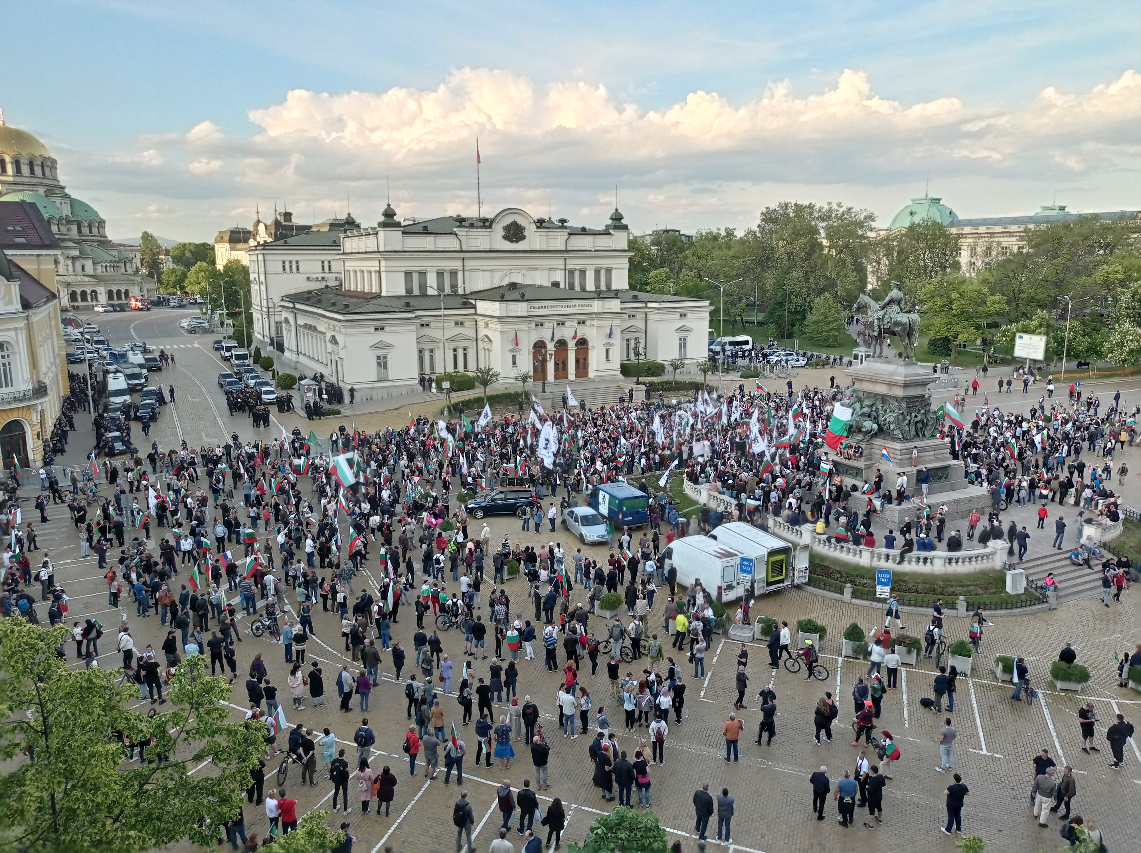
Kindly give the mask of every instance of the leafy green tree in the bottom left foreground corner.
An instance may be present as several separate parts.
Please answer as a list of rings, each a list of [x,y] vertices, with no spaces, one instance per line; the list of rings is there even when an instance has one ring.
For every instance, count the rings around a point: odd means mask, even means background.
[[[0,837],[17,853],[135,853],[181,839],[213,846],[237,809],[261,755],[265,723],[232,722],[225,677],[202,656],[179,665],[171,709],[129,709],[132,685],[98,667],[71,669],[57,656],[64,626],[0,620]],[[120,740],[154,738],[156,764],[124,765]],[[24,757],[26,756],[26,757]],[[209,771],[194,772],[209,762]],[[159,817],[156,819],[156,815]],[[325,851],[337,834],[309,830]]]

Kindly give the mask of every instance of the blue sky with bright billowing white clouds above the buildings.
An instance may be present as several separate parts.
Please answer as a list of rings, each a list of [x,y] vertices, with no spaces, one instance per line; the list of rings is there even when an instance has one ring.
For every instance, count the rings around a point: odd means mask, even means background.
[[[634,234],[1141,209],[1141,7],[40,0],[0,107],[113,237],[520,206]],[[9,18],[9,23],[10,18]],[[23,33],[23,34],[22,34]]]

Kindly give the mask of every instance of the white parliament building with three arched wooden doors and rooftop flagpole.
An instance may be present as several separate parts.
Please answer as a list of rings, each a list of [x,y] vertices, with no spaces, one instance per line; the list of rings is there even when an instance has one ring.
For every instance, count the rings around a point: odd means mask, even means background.
[[[636,358],[705,358],[710,303],[631,291],[629,228],[532,217],[399,221],[251,243],[254,342],[278,369],[355,387],[365,399],[419,391],[421,375],[491,365],[510,383],[621,382]],[[343,227],[343,226],[342,226]]]

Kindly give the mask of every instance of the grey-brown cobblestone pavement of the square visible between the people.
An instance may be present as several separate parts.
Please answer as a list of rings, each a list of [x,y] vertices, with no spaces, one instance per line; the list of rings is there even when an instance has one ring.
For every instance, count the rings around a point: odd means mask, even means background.
[[[111,331],[120,341],[129,340],[131,324],[128,320],[132,320],[139,339],[146,338],[157,346],[162,346],[164,341],[185,342],[173,325],[175,318],[169,315],[163,318],[156,311],[141,322],[135,322],[133,316],[118,320],[119,326],[115,326],[116,320],[103,320],[103,325],[107,326],[105,331]],[[147,327],[144,324],[151,325]],[[163,330],[165,338],[156,335],[153,331],[155,328]],[[207,339],[192,340],[209,347]],[[215,383],[215,374],[219,367],[212,364],[215,359],[209,350],[193,348],[175,351],[175,372],[171,373],[168,368],[161,374],[164,384],[173,382],[176,387],[175,408],[173,412],[169,407],[163,409],[156,429],[152,430],[152,437],[157,438],[163,447],[177,442],[180,434],[192,444],[201,444],[202,440],[218,441],[224,434],[235,430],[243,439],[248,437],[251,430],[245,416],[230,417],[226,414],[224,398]],[[84,416],[80,415],[76,417],[76,425],[83,421]],[[335,421],[326,422],[326,426],[330,423]],[[261,432],[267,438],[280,434],[275,428]],[[136,442],[140,438],[136,432]],[[72,449],[57,465],[82,463],[89,439],[90,436],[82,430],[76,433],[71,442]],[[29,495],[34,490],[32,478],[26,482],[23,494]],[[37,527],[40,545],[56,562],[57,579],[71,596],[68,619],[97,615],[104,624],[114,625],[119,611],[108,608],[106,586],[96,560],[79,559],[78,537],[62,507],[51,509],[49,515],[51,520],[48,523]],[[544,541],[560,541],[564,546],[570,545],[572,553],[577,547],[576,544],[568,543],[561,530],[542,535],[523,533],[513,517],[489,519],[489,526],[495,541],[508,534],[513,543],[529,542],[537,545]],[[583,547],[583,551],[597,559],[606,555],[606,551],[599,546]],[[372,561],[369,566],[373,567],[375,562]],[[512,580],[507,588],[512,599],[512,610],[519,612],[521,618],[533,617],[533,609],[526,601],[525,583]],[[1095,704],[1102,721],[1098,726],[1099,739],[1104,737],[1104,729],[1116,712],[1124,713],[1134,723],[1141,721],[1141,696],[1116,687],[1112,660],[1115,650],[1132,649],[1141,642],[1141,619],[1138,618],[1135,602],[1138,594],[1136,591],[1126,593],[1123,603],[1109,610],[1102,608],[1098,599],[1089,599],[1066,604],[1054,612],[994,619],[995,625],[987,629],[972,677],[960,681],[955,709],[948,713],[958,730],[954,766],[963,774],[964,782],[971,789],[964,809],[966,834],[984,836],[996,850],[1036,851],[1058,850],[1061,846],[1061,839],[1057,835],[1057,817],[1052,818],[1051,829],[1039,829],[1030,815],[1030,758],[1045,747],[1059,764],[1070,762],[1077,773],[1075,812],[1098,821],[1106,830],[1111,850],[1130,847],[1128,838],[1134,839],[1132,844],[1135,846],[1138,836],[1132,818],[1138,795],[1141,794],[1141,750],[1135,741],[1131,742],[1125,749],[1125,769],[1108,769],[1108,745],[1102,746],[1100,755],[1087,756],[1082,753],[1076,713],[1086,700]],[[661,595],[657,598],[648,619],[648,625],[659,633],[663,600]],[[138,619],[133,616],[130,602],[126,604],[124,610],[136,643],[145,645],[151,642],[157,647],[164,636],[159,619]],[[850,693],[856,676],[864,674],[867,667],[861,661],[841,661],[834,656],[840,650],[843,628],[850,622],[857,620],[865,629],[869,629],[879,624],[879,615],[867,608],[816,596],[802,590],[758,600],[753,615],[771,615],[787,619],[791,624],[796,618],[812,617],[825,624],[830,633],[823,643],[823,659],[830,669],[828,681],[804,683],[801,676],[783,668],[772,673],[763,644],[748,644],[750,691],[746,693],[746,701],[751,707],[742,712],[745,732],[741,742],[741,761],[727,764],[721,728],[733,712],[731,705],[736,698],[733,664],[739,645],[720,636],[714,637],[706,660],[706,676],[686,680],[686,707],[689,715],[681,725],[670,725],[665,766],[655,765],[650,771],[654,810],[662,824],[669,828],[671,840],[680,838],[687,853],[696,850],[691,797],[702,782],[710,782],[714,793],[721,787],[728,787],[729,793],[736,797],[731,847],[746,853],[791,853],[809,848],[839,851],[851,850],[853,845],[860,844],[874,844],[889,852],[911,853],[916,845],[922,845],[923,848],[953,850],[953,839],[939,832],[939,827],[945,821],[942,791],[950,782],[947,774],[934,770],[939,763],[936,740],[942,715],[925,710],[920,705],[922,697],[931,694],[934,674],[931,661],[921,659],[919,666],[905,667],[899,690],[891,691],[883,702],[879,725],[896,736],[903,753],[901,761],[892,771],[895,780],[889,782],[884,797],[884,823],[876,831],[868,831],[861,826],[866,815],[860,814],[856,828],[845,830],[836,823],[835,806],[831,801],[826,810],[827,820],[818,822],[812,819],[808,777],[823,764],[827,765],[828,775],[835,781],[843,770],[855,766],[859,750],[850,747],[847,739],[852,716]],[[921,617],[909,615],[908,618],[915,620]],[[238,674],[245,673],[254,651],[262,651],[270,679],[282,688],[281,694],[285,698],[290,723],[304,722],[318,732],[329,726],[345,741],[351,757],[354,747],[349,741],[361,723],[362,713],[357,710],[358,705],[354,700],[353,712],[342,714],[333,691],[334,676],[341,664],[351,665],[351,661],[345,657],[338,623],[332,615],[318,610],[314,622],[317,635],[316,642],[309,644],[309,658],[319,660],[324,669],[326,694],[331,693],[333,697],[326,705],[301,712],[291,710],[286,696],[288,667],[283,650],[268,640],[250,635],[244,619],[240,622],[244,628],[244,642],[237,647]],[[960,625],[958,622],[948,623],[950,640],[965,635],[965,625]],[[592,628],[597,629],[599,625],[600,620],[591,619]],[[414,629],[414,616],[404,609],[399,624],[395,626],[394,640],[402,641],[406,649],[411,648]],[[443,635],[444,650],[458,668],[467,659],[462,652],[462,640],[454,631]],[[1078,660],[1086,664],[1093,674],[1081,694],[1059,692],[1049,681],[1050,663],[1055,659],[1066,641],[1074,644]],[[1010,699],[1010,685],[1001,684],[994,677],[990,664],[997,653],[1022,655],[1027,658],[1031,681],[1038,687],[1043,701],[1026,705]],[[351,823],[350,831],[358,839],[355,850],[377,853],[386,845],[391,845],[398,852],[454,850],[451,811],[458,796],[455,783],[453,781],[452,786],[445,787],[443,775],[436,781],[426,782],[422,764],[418,765],[414,777],[408,775],[406,756],[400,752],[407,725],[406,718],[400,716],[406,705],[403,685],[395,682],[389,656],[383,655],[382,658],[381,684],[373,692],[371,709],[364,716],[370,718],[378,737],[373,769],[379,770],[383,764],[389,764],[399,779],[399,785],[388,818],[378,817],[375,810],[369,815],[362,815],[358,804],[354,804],[348,820]],[[408,660],[405,674],[408,673],[414,655]],[[680,656],[678,659],[681,660]],[[100,664],[108,668],[116,667],[119,663],[119,655],[113,651],[100,659]],[[475,674],[486,677],[488,663],[489,659],[474,661]],[[73,665],[78,666],[78,663]],[[683,663],[682,666],[685,668]],[[641,661],[626,668],[641,668]],[[664,665],[656,668],[664,674]],[[596,699],[596,713],[600,705],[607,707],[612,723],[617,726],[621,747],[632,756],[637,738],[624,734],[622,712],[617,706],[612,707],[612,691],[605,666],[600,665],[599,669],[600,675],[591,679],[588,666],[582,683]],[[691,672],[688,674],[691,675]],[[777,734],[771,747],[753,742],[759,722],[755,696],[767,684],[771,684],[776,691],[779,709]],[[519,694],[529,694],[540,705],[547,738],[552,746],[552,787],[544,793],[541,807],[545,813],[548,796],[558,796],[567,804],[569,821],[564,840],[566,844],[567,840],[581,840],[590,822],[609,811],[610,806],[602,801],[590,781],[591,766],[586,755],[589,738],[580,737],[575,742],[564,739],[558,730],[553,702],[557,687],[556,675],[548,674],[542,667],[541,655],[534,661],[520,661]],[[841,715],[833,741],[816,746],[812,739],[812,708],[824,690],[836,694]],[[511,762],[505,773],[496,767],[477,769],[474,761],[474,726],[460,726],[461,709],[451,697],[445,698],[443,705],[448,715],[448,725],[454,720],[461,738],[468,745],[466,771],[469,772],[466,773],[464,787],[476,814],[475,846],[485,850],[496,837],[502,822],[495,807],[495,786],[509,778],[517,789],[524,779],[533,778],[529,756],[523,745],[516,742],[519,756]],[[240,681],[234,693],[235,718],[241,717],[244,708],[245,694]],[[501,710],[505,713],[505,707],[496,706],[496,713]],[[641,732],[640,737],[647,738],[645,730]],[[1100,742],[1104,744],[1103,740]],[[267,769],[267,788],[274,785],[275,767],[273,765]],[[194,772],[209,773],[209,766]],[[329,809],[331,805],[331,786],[319,773],[317,787],[302,788],[294,771],[290,775],[288,788],[290,795],[299,799],[302,812]],[[343,819],[340,813],[329,815],[329,822],[334,827]],[[259,834],[266,831],[267,821],[261,809],[246,807],[246,829]],[[714,836],[715,821],[709,830],[710,848],[723,848],[725,845],[713,842]],[[513,829],[509,839],[517,850],[521,847],[521,839]],[[189,845],[180,846],[189,848]]]

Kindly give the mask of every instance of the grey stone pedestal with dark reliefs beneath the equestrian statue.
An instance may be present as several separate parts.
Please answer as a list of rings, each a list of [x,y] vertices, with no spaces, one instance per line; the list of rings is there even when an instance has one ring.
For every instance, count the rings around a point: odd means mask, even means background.
[[[915,361],[875,358],[863,365],[844,371],[855,383],[852,405],[855,414],[849,425],[849,434],[864,447],[859,460],[834,460],[834,470],[844,481],[855,481],[857,488],[864,480],[872,482],[876,469],[883,474],[884,490],[891,489],[895,497],[896,479],[907,474],[906,494],[921,497],[919,476],[925,466],[931,474],[928,487],[928,503],[933,507],[947,505],[948,527],[965,519],[971,510],[984,515],[989,510],[990,497],[986,489],[966,484],[964,465],[950,456],[948,442],[930,434],[934,414],[928,398],[928,385],[939,379],[929,368]],[[865,429],[874,424],[875,429]],[[888,448],[891,463],[881,456]],[[916,454],[915,464],[912,456]],[[880,515],[896,529],[905,517],[914,520],[921,506],[905,499],[903,504],[885,504]]]

